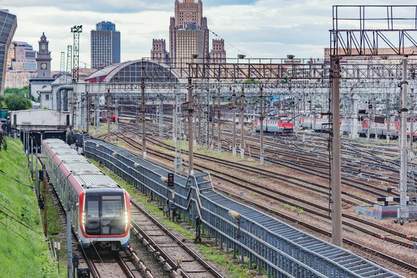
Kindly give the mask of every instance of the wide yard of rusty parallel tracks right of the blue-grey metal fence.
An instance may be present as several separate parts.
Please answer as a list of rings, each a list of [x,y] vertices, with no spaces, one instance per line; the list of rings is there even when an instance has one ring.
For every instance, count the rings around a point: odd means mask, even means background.
[[[120,124],[111,133],[118,147],[140,155],[141,129],[138,124]],[[164,123],[164,131],[172,124]],[[222,142],[231,138],[230,122],[222,123]],[[173,168],[175,147],[171,140],[152,136],[158,126],[147,129],[147,154],[150,161]],[[266,136],[265,165],[259,167],[259,134],[245,128],[245,156],[227,151],[195,152],[197,171],[213,177],[215,190],[258,208],[284,222],[330,240],[329,156],[327,135]],[[166,134],[169,137],[169,134]],[[217,134],[215,134],[217,136]],[[106,140],[106,135],[93,136]],[[217,141],[217,140],[215,140]],[[393,219],[375,220],[355,213],[356,206],[377,204],[377,197],[398,196],[398,149],[395,145],[342,141],[343,246],[370,261],[384,265],[405,277],[417,274],[416,222],[395,224]],[[217,147],[217,146],[215,146]],[[222,146],[228,149],[227,145]],[[186,147],[184,149],[187,149]],[[182,151],[183,158],[187,151]],[[186,164],[186,160],[183,161]],[[361,174],[358,175],[358,170]],[[391,194],[387,189],[391,188]]]

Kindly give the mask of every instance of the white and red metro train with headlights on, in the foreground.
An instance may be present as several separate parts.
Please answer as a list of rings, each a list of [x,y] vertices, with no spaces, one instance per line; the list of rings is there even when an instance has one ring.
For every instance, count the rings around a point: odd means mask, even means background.
[[[46,139],[44,165],[82,247],[120,250],[129,245],[130,196],[63,140]]]

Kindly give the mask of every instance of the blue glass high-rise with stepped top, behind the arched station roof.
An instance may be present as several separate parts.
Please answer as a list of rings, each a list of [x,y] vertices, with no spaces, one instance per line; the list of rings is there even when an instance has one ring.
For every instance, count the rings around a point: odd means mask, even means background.
[[[91,67],[101,69],[120,63],[120,32],[111,22],[99,22],[91,31]]]

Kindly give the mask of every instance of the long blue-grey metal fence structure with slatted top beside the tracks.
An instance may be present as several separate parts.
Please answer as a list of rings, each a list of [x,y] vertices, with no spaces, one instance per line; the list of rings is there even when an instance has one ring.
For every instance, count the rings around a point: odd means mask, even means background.
[[[85,154],[161,206],[174,204],[179,218],[201,229],[203,236],[213,236],[216,246],[232,252],[242,263],[247,260],[250,268],[257,265],[259,274],[263,269],[270,277],[400,277],[217,193],[206,172],[188,178],[175,175],[172,191],[161,179],[169,170],[115,145],[88,140]]]

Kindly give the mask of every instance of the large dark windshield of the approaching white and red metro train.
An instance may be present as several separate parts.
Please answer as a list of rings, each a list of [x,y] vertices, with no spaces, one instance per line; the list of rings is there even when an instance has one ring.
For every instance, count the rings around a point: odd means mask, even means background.
[[[123,195],[86,196],[85,232],[89,235],[106,236],[124,234]]]

